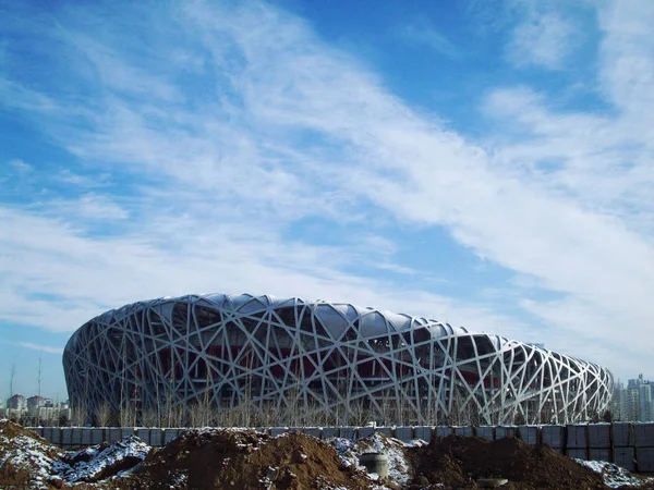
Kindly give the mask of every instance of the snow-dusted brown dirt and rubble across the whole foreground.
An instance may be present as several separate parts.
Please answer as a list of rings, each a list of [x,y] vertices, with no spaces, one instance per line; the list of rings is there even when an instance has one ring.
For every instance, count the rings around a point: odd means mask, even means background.
[[[389,474],[366,474],[359,457],[383,453]],[[489,480],[495,478],[496,480]],[[501,480],[500,480],[501,479]],[[437,438],[431,443],[375,433],[329,441],[300,432],[192,429],[161,449],[129,437],[62,451],[0,420],[0,488],[25,489],[654,489],[614,464],[576,461],[518,439]]]

